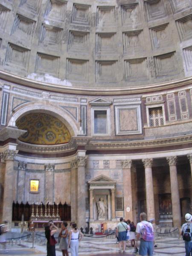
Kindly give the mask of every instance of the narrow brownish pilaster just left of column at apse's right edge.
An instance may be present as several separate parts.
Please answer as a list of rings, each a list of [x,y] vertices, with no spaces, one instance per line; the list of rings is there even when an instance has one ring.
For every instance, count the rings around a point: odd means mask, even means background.
[[[77,222],[77,168],[78,160],[71,162],[71,221]]]

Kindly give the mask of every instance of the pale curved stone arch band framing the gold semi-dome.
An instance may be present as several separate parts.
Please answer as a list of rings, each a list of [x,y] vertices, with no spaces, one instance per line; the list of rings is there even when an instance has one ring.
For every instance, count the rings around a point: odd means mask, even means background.
[[[18,118],[21,118],[22,116],[25,116],[29,113],[47,113],[49,115],[53,115],[61,120],[64,125],[66,125],[70,131],[71,137],[77,136],[79,133],[76,122],[74,122],[73,118],[67,113],[67,111],[52,105],[43,104],[27,105],[23,108],[20,108],[16,113],[13,114],[12,118],[9,120],[8,126],[15,126]]]

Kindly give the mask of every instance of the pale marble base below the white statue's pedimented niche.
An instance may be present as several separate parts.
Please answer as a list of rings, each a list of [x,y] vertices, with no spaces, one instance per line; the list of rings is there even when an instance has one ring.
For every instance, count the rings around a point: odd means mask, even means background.
[[[101,232],[101,224],[105,224],[105,228],[106,230],[108,230],[108,233],[109,230],[114,230],[116,228],[116,225],[119,223],[119,221],[108,221],[108,220],[90,220],[89,222],[89,227],[92,227],[93,228],[93,233],[95,232]],[[105,233],[105,230],[104,230],[104,233]]]

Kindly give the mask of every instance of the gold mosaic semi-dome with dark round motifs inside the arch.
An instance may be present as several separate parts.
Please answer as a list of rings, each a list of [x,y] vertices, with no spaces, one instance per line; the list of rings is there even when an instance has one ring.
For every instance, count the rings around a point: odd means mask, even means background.
[[[68,143],[71,139],[67,127],[56,117],[44,113],[30,113],[17,120],[19,129],[26,133],[20,141],[39,145]]]

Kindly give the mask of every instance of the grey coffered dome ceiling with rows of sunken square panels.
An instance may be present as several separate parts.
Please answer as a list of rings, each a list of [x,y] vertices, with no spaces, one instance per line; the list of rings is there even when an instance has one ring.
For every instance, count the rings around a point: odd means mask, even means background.
[[[5,0],[0,68],[96,88],[191,76],[191,5],[191,0]]]

